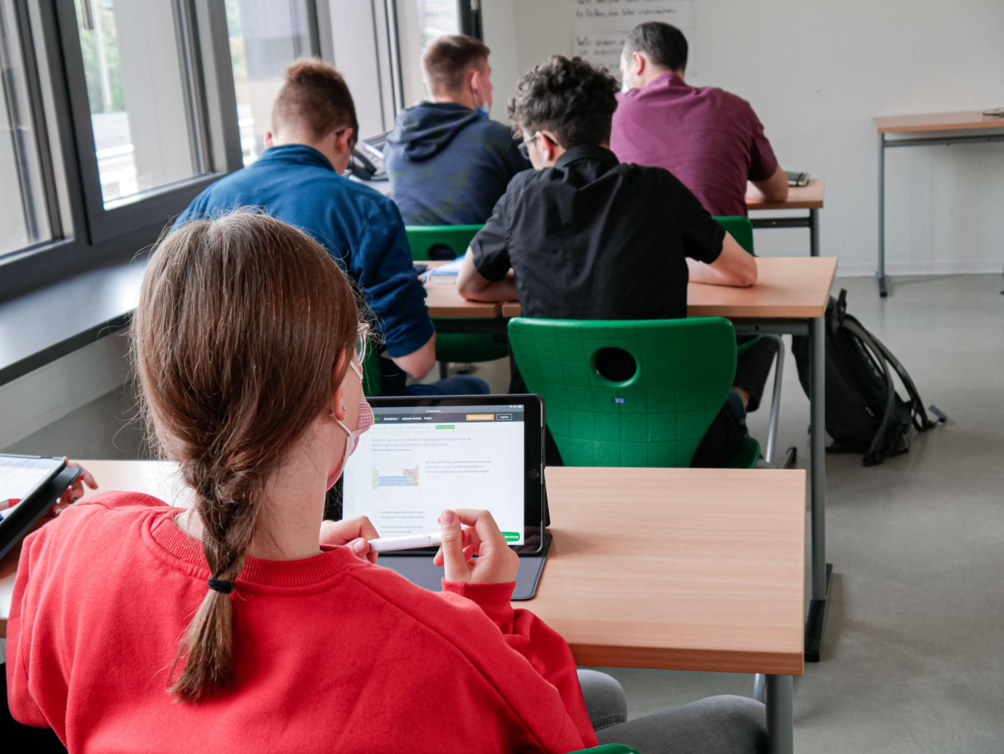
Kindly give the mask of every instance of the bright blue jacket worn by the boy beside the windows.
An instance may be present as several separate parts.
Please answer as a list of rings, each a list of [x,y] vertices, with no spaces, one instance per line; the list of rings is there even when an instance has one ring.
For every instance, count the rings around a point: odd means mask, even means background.
[[[433,336],[426,289],[412,265],[405,224],[394,202],[342,178],[306,145],[265,150],[253,165],[221,178],[175,221],[258,207],[313,236],[362,291],[388,353],[403,356]]]

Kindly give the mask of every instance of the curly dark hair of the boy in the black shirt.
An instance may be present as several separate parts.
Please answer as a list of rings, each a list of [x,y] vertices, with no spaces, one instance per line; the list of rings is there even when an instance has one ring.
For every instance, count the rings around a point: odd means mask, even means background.
[[[520,79],[509,100],[509,119],[529,134],[552,132],[566,150],[609,144],[619,88],[606,68],[554,55]]]

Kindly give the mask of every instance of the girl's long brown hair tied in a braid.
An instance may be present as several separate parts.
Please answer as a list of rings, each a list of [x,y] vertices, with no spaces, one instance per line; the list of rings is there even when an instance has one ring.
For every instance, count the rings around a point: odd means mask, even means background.
[[[265,483],[329,410],[358,318],[331,256],[267,215],[189,223],[151,255],[132,326],[141,407],[195,490],[211,578],[240,575]],[[231,597],[207,587],[169,691],[198,700],[233,673]]]

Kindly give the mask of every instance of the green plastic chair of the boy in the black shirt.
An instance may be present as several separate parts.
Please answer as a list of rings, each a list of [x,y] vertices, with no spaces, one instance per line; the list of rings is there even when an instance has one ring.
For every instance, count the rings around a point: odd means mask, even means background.
[[[690,466],[736,372],[735,328],[722,317],[516,317],[509,344],[568,466]],[[631,354],[634,373],[630,364],[623,379],[612,373],[606,349]],[[747,437],[727,466],[754,468],[759,458]]]

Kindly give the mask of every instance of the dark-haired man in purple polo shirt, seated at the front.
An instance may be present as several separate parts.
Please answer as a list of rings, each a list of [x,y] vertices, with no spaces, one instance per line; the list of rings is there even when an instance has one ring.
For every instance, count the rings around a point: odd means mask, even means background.
[[[676,26],[636,26],[620,55],[623,84],[610,150],[621,163],[665,168],[716,216],[746,215],[746,194],[788,197],[763,124],[749,102],[684,81],[687,39]],[[747,181],[752,187],[747,187]]]

